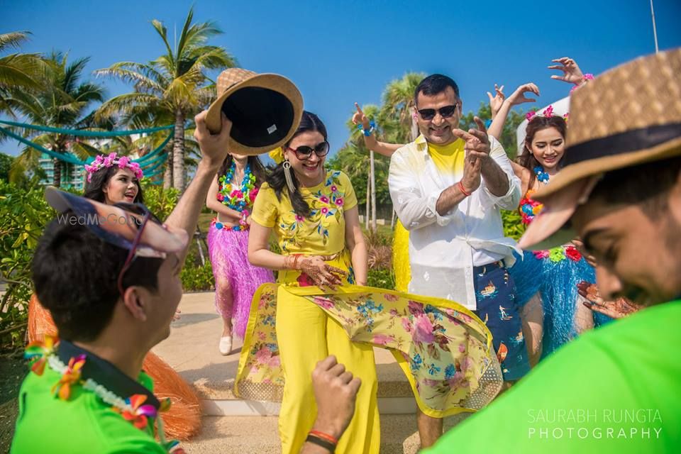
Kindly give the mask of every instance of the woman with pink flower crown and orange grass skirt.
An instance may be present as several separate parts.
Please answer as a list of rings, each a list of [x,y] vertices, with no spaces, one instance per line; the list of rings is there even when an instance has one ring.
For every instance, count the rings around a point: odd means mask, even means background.
[[[143,203],[140,186],[143,172],[129,157],[119,157],[116,153],[106,157],[98,155],[90,165],[85,165],[85,171],[87,182],[83,196],[88,199],[109,205]],[[28,342],[43,341],[45,336],[57,336],[57,327],[50,312],[33,294],[28,303]],[[201,408],[192,387],[153,352],[145,357],[143,370],[154,380],[155,395],[162,399],[170,397],[172,401],[163,417],[167,435],[181,440],[194,436],[201,426]]]

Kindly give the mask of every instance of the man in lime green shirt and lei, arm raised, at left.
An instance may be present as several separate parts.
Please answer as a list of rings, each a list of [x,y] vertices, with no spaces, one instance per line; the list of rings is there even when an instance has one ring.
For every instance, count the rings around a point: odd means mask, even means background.
[[[170,334],[187,232],[227,153],[231,124],[223,119],[221,133],[210,135],[204,115],[196,118],[201,161],[163,226],[139,204],[45,191],[59,215],[35,250],[33,283],[61,341],[27,348],[33,372],[19,392],[11,453],[181,452],[158,417],[168,402],[154,397],[141,368]]]

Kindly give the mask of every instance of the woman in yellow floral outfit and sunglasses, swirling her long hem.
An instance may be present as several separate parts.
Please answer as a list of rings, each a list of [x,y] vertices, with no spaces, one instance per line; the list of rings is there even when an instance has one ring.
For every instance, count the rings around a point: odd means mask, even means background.
[[[452,301],[364,287],[367,250],[357,199],[343,172],[325,170],[326,128],[304,112],[253,206],[248,258],[279,270],[253,297],[236,394],[277,399],[282,453],[298,453],[314,428],[311,372],[336,355],[362,384],[336,453],[378,453],[380,423],[372,345],[388,348],[430,416],[475,411],[502,378],[485,324]],[[283,162],[282,162],[283,161]],[[269,250],[274,231],[281,253]],[[268,394],[263,397],[263,394]]]

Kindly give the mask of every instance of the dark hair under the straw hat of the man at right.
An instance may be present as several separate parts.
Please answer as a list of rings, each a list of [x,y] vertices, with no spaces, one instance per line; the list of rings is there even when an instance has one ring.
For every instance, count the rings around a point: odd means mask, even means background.
[[[646,162],[607,172],[596,184],[590,199],[607,204],[641,205],[651,219],[668,211],[670,190],[681,174],[681,157]]]

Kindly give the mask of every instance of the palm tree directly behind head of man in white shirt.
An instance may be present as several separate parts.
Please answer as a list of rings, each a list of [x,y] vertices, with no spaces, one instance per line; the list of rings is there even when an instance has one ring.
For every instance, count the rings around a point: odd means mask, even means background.
[[[414,91],[426,74],[422,72],[408,72],[402,79],[390,82],[383,93],[382,119],[394,121],[401,127],[394,134],[394,143],[407,143],[416,140],[419,128],[414,120]]]

